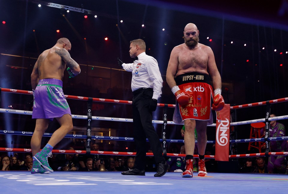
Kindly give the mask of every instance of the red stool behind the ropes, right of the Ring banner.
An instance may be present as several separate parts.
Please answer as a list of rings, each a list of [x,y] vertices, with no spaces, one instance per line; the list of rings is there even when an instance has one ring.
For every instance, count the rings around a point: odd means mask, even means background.
[[[251,123],[251,130],[250,130],[250,139],[255,139],[255,138],[262,138],[265,135],[263,133],[261,134],[261,129],[262,132],[265,132],[265,123]],[[258,146],[257,146],[258,144]],[[261,153],[261,147],[264,145],[264,142],[249,142],[248,150],[250,150],[251,147],[255,147],[259,149],[259,153]]]

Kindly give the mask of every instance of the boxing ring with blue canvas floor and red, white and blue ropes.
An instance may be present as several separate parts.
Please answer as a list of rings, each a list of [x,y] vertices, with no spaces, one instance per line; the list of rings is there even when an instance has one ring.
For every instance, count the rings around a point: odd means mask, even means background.
[[[1,92],[12,92],[17,94],[29,94],[32,95],[32,91],[16,90],[1,88]],[[1,94],[1,93],[0,93]],[[113,99],[100,99],[100,98],[88,98],[82,96],[65,95],[67,99],[77,99],[88,101],[87,105],[87,116],[86,115],[72,115],[73,119],[85,119],[87,120],[87,135],[71,135],[67,134],[65,138],[81,138],[86,139],[86,150],[52,150],[52,153],[77,153],[77,154],[104,154],[104,155],[125,155],[134,156],[135,152],[118,152],[115,151],[91,151],[90,141],[91,139],[97,140],[113,140],[113,141],[134,141],[132,137],[112,137],[112,136],[91,136],[91,122],[92,120],[106,120],[116,122],[133,122],[132,119],[128,118],[116,118],[116,117],[101,117],[92,116],[91,104],[93,102],[109,102],[109,103],[121,103],[121,104],[132,104],[132,101],[125,100],[113,100]],[[246,105],[230,106],[230,110],[238,108],[248,108],[253,106],[266,105],[268,111],[270,111],[270,105],[279,102],[288,102],[288,98],[270,100],[266,102],[256,102]],[[71,105],[70,103],[70,106]],[[175,125],[173,121],[167,121],[167,114],[165,109],[174,108],[175,105],[158,104],[158,107],[164,108],[163,120],[153,120],[153,123],[162,124],[162,142],[163,152],[166,156],[182,156],[184,154],[177,153],[166,153],[165,145],[169,143],[184,143],[184,140],[166,139],[165,128],[167,125]],[[268,112],[267,111],[267,112]],[[0,108],[0,113],[3,114],[24,114],[32,115],[32,111],[25,110],[14,110],[14,109],[3,109]],[[266,113],[267,115],[267,113]],[[288,119],[288,115],[247,120],[241,122],[231,122],[230,126],[267,122],[271,120],[283,120]],[[216,126],[212,124],[209,126]],[[33,132],[26,131],[8,131],[0,130],[0,134],[12,134],[12,135],[29,135],[32,136]],[[44,136],[51,137],[52,133],[44,133]],[[255,138],[255,139],[236,139],[229,140],[229,143],[242,143],[242,142],[261,142],[264,141],[267,145],[269,141],[276,140],[288,140],[288,136],[269,138]],[[148,139],[147,139],[148,141]],[[209,140],[207,143],[215,143],[215,140]],[[0,151],[3,152],[31,152],[29,148],[9,148],[2,147]],[[153,156],[153,153],[147,153],[147,156]],[[255,156],[269,156],[269,155],[288,155],[288,152],[268,152],[265,153],[251,153],[251,154],[237,154],[229,155],[229,158],[243,158],[243,157],[255,157]],[[198,155],[194,155],[198,158]],[[205,155],[205,158],[215,158],[212,155]],[[146,176],[123,176],[120,172],[103,172],[103,171],[92,171],[92,172],[80,172],[80,171],[54,171],[51,174],[31,174],[30,171],[0,171],[1,190],[3,192],[21,192],[23,189],[29,189],[30,192],[41,192],[43,193],[58,193],[58,192],[129,192],[137,191],[140,193],[147,192],[216,192],[216,193],[244,193],[257,188],[262,193],[273,192],[269,186],[271,183],[274,188],[277,188],[277,192],[286,193],[288,185],[285,184],[288,181],[287,175],[282,174],[240,174],[240,173],[211,173],[208,172],[207,177],[197,177],[197,173],[194,174],[193,178],[182,178],[179,172],[167,172],[163,177],[154,177],[155,172],[146,172]],[[189,182],[188,182],[189,181]],[[203,184],[204,183],[204,184]],[[270,183],[270,184],[269,184]],[[17,186],[15,186],[17,185]],[[128,190],[129,189],[129,190]],[[132,190],[131,190],[132,189]]]

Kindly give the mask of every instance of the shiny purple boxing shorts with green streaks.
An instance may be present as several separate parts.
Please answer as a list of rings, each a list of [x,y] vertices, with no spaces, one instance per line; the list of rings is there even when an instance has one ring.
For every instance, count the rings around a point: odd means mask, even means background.
[[[71,111],[58,79],[39,80],[35,89],[32,119],[50,119],[70,114]]]

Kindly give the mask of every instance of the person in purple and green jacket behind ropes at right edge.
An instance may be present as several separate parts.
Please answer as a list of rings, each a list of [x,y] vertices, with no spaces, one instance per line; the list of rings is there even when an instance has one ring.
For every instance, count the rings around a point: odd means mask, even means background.
[[[270,117],[276,117],[275,114],[270,114]],[[269,137],[283,137],[285,136],[285,126],[282,123],[278,123],[277,120],[271,120],[269,128]],[[270,141],[271,152],[286,152],[287,150],[286,140]],[[286,163],[285,156],[270,156],[268,158],[268,173],[285,174]]]

